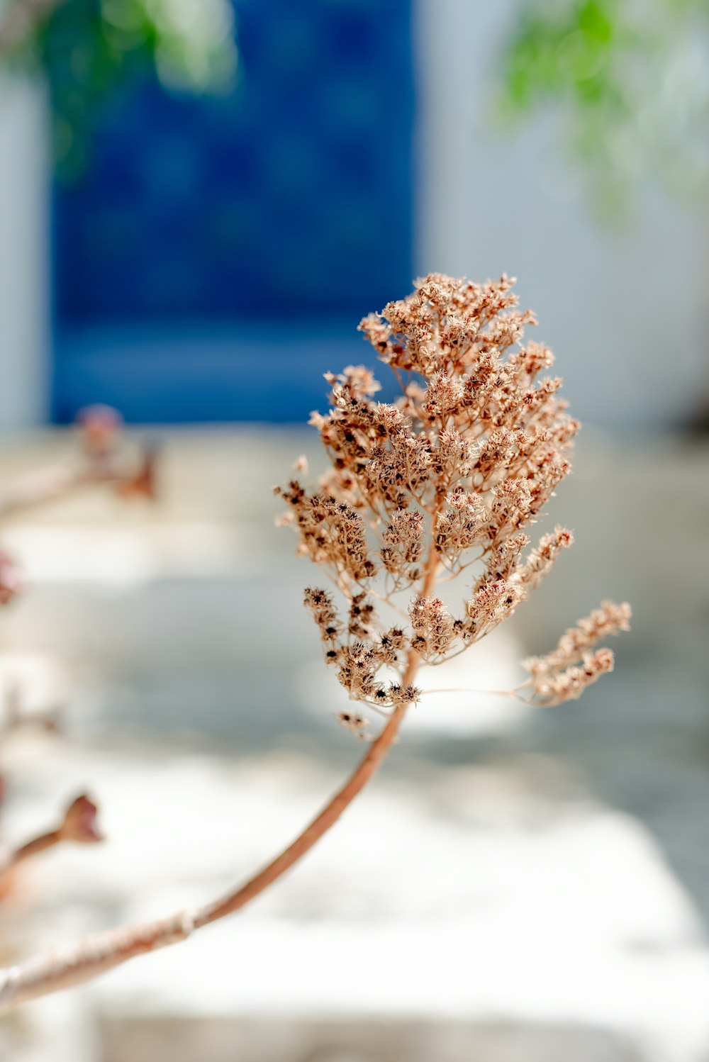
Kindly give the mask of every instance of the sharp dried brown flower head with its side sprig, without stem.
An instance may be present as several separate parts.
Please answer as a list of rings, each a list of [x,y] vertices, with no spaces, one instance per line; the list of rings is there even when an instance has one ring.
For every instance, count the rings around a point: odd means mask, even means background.
[[[570,472],[578,422],[541,343],[524,342],[534,314],[517,309],[514,281],[483,285],[432,274],[360,329],[394,372],[400,394],[379,401],[364,366],[328,374],[330,411],[314,413],[331,468],[315,489],[292,480],[276,493],[279,520],[298,551],[344,599],[306,590],[325,658],[354,701],[391,713],[419,699],[413,679],[500,622],[573,542],[557,527],[533,548],[526,534]],[[305,469],[302,461],[299,466]],[[457,613],[439,583],[469,571]],[[395,626],[380,618],[393,610]],[[539,704],[578,697],[611,670],[599,638],[628,629],[627,604],[605,603],[568,631],[549,656],[526,663]],[[402,622],[403,620],[403,622]],[[367,720],[344,713],[360,735]]]

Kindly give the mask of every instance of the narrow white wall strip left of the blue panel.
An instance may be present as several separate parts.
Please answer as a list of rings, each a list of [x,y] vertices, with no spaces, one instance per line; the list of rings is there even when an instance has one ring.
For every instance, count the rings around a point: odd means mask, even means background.
[[[0,78],[0,431],[47,417],[49,134],[44,86]]]

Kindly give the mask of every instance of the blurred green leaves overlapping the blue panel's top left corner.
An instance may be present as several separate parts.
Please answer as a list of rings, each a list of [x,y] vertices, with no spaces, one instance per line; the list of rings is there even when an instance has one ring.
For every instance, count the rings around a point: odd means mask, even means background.
[[[7,0],[0,59],[48,76],[54,157],[65,178],[86,162],[97,108],[154,69],[166,87],[224,91],[237,67],[230,0]]]

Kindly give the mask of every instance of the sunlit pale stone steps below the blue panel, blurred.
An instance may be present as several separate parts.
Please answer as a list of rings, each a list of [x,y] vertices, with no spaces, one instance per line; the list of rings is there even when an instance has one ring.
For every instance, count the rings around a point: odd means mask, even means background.
[[[27,868],[0,912],[5,962],[220,894],[292,838],[361,751],[332,722],[339,690],[301,615],[312,569],[272,526],[270,486],[315,455],[312,440],[175,432],[165,449],[152,510],[87,494],[3,529],[35,585],[0,617],[0,681],[19,679],[29,708],[58,701],[64,718],[58,737],[5,743],[4,840],[84,788],[109,838]],[[69,450],[62,434],[37,438],[0,455],[0,477]],[[0,1032],[6,1052],[172,1062],[166,1037],[185,1058],[243,1062],[248,1027],[255,1050],[295,1028],[302,1062],[330,1049],[376,1060],[420,1021],[427,1062],[446,1044],[451,1062],[706,1062],[707,459],[587,431],[552,512],[576,546],[481,663],[462,657],[436,683],[509,687],[520,656],[604,596],[636,613],[612,676],[532,715],[478,693],[425,700],[369,791],[276,888],[178,948],[25,1008]],[[364,1039],[313,1039],[343,1021]],[[376,1029],[366,1039],[381,1022],[400,1031],[384,1048]],[[283,1058],[282,1042],[267,1057]]]

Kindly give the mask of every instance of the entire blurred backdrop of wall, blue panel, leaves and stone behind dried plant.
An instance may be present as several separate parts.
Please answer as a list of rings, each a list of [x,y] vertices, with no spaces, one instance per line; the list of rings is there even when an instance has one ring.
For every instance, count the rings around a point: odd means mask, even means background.
[[[708,47],[705,0],[0,4],[2,490],[89,402],[160,444],[155,502],[0,528],[5,700],[59,720],[3,734],[3,842],[84,789],[108,835],[22,871],[3,963],[221,892],[360,755],[271,485],[414,276],[518,276],[584,421],[573,551],[445,684],[635,612],[577,703],[425,701],[286,880],[6,1057],[709,1060]]]

